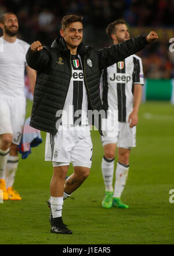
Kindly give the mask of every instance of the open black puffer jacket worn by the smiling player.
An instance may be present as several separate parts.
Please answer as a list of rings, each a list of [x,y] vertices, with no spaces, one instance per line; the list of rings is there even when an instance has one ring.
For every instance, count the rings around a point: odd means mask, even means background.
[[[102,70],[115,62],[139,52],[148,44],[142,35],[95,51],[90,47],[78,46],[82,59],[84,82],[88,94],[88,109],[100,111],[100,75]],[[62,37],[56,38],[51,47],[44,47],[37,54],[26,55],[28,66],[37,70],[30,125],[36,129],[57,133],[56,112],[63,109],[71,79],[71,54]],[[96,121],[97,123],[98,121]],[[102,134],[99,127],[97,127]]]

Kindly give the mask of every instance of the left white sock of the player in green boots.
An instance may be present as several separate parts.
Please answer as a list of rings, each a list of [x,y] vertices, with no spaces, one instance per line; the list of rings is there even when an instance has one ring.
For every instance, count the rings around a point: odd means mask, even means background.
[[[114,159],[102,158],[102,174],[106,191],[113,191]]]

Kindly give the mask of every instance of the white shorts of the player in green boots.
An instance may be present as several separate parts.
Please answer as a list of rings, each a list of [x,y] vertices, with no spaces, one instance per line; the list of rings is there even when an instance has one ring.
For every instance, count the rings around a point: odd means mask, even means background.
[[[102,145],[116,143],[118,148],[136,147],[136,126],[129,127],[128,122],[118,123],[118,133],[113,133],[112,136],[101,136]]]

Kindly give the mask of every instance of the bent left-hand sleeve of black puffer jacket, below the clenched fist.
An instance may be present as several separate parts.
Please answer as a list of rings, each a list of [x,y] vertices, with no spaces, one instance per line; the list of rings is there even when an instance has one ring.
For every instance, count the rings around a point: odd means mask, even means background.
[[[32,69],[38,71],[44,70],[48,65],[50,59],[51,55],[46,47],[44,47],[41,51],[37,52],[36,54],[32,54],[31,48],[28,48],[26,54],[26,61],[27,65],[30,66]]]

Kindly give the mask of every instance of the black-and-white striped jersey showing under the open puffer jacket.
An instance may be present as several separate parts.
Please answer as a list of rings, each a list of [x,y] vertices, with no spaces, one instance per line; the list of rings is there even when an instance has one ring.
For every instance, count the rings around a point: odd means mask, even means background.
[[[88,95],[79,55],[71,55],[72,76],[61,117],[62,125],[88,125]]]

